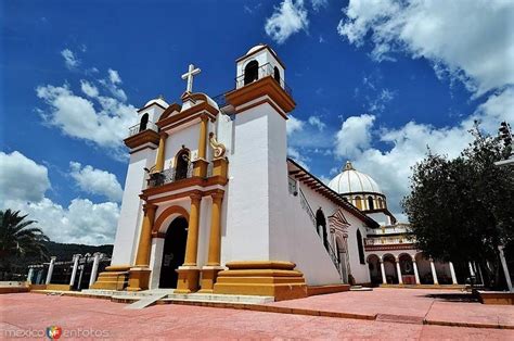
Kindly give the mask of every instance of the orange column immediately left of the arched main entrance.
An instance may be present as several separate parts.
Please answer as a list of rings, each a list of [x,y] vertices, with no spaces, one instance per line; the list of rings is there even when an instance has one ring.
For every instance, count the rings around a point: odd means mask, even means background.
[[[149,288],[150,282],[150,251],[152,248],[152,228],[154,226],[157,206],[151,203],[143,205],[144,217],[139,236],[136,266],[130,268],[129,286],[127,290],[139,291]]]

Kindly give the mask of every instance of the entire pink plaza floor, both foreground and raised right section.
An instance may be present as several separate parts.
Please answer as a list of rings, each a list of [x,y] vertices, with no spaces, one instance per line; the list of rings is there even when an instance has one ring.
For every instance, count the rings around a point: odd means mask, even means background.
[[[459,292],[374,289],[275,302],[291,314],[163,304],[141,311],[107,300],[14,293],[0,295],[0,339],[41,339],[60,326],[61,339],[487,339],[514,340],[514,306],[468,302]],[[294,310],[374,316],[373,320],[294,314]],[[428,324],[427,324],[428,323]],[[439,325],[431,325],[438,323]],[[470,324],[470,327],[442,324]],[[486,327],[480,328],[479,326]]]

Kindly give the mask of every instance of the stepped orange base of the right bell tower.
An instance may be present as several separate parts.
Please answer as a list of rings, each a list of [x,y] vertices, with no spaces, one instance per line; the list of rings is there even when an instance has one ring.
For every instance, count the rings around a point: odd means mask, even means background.
[[[281,261],[247,261],[227,263],[220,271],[214,293],[273,296],[275,301],[306,298],[304,274],[296,264]]]

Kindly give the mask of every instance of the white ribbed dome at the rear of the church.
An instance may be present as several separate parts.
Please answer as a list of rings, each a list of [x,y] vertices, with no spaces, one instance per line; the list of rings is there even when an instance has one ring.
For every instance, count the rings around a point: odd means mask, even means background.
[[[376,181],[368,174],[356,171],[349,161],[343,172],[329,182],[329,187],[339,194],[365,192],[384,195]]]

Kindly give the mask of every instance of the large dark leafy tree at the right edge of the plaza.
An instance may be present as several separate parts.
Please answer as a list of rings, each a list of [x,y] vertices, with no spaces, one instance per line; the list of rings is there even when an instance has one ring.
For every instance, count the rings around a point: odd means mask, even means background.
[[[505,153],[499,138],[477,125],[471,134],[474,141],[459,157],[428,151],[412,167],[402,206],[419,250],[446,262],[477,262],[491,285],[499,282],[498,245],[514,240],[514,169],[494,166]]]

